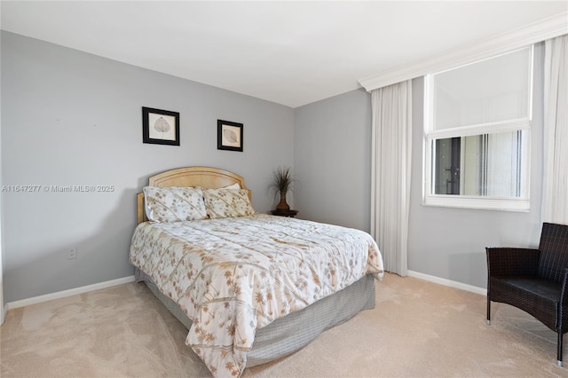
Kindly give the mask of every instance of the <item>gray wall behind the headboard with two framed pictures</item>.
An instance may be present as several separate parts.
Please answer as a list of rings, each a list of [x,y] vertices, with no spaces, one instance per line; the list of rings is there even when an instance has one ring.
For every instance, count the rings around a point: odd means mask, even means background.
[[[166,169],[246,178],[267,212],[272,170],[294,163],[294,111],[2,32],[4,185],[114,185],[113,193],[4,193],[4,301],[130,276],[135,194]],[[181,146],[142,143],[142,106],[180,113]],[[244,123],[244,152],[217,150],[217,119]],[[293,203],[293,199],[290,199]],[[66,248],[78,248],[67,260]]]

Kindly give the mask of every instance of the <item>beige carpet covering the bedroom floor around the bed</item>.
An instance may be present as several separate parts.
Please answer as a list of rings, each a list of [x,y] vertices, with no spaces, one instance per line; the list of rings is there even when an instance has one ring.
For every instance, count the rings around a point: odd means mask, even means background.
[[[556,335],[523,311],[493,303],[486,326],[485,296],[393,274],[376,294],[375,310],[243,377],[568,377]],[[1,374],[210,376],[185,334],[143,284],[75,295],[8,312]]]

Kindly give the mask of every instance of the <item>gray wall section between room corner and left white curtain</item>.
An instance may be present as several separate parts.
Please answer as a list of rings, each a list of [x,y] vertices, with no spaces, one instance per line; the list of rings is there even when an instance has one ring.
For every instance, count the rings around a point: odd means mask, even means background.
[[[298,217],[369,231],[371,96],[350,91],[295,109]]]

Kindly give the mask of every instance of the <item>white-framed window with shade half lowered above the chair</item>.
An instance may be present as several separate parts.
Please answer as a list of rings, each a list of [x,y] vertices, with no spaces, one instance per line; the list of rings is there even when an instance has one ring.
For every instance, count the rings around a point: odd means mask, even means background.
[[[425,205],[529,209],[533,48],[427,75]]]

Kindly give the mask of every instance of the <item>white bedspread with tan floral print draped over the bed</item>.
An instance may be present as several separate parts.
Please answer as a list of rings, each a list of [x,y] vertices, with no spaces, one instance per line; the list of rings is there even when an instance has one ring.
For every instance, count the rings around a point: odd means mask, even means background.
[[[257,328],[383,278],[367,232],[260,214],[139,224],[130,262],[193,320],[185,343],[218,377],[241,375]]]

